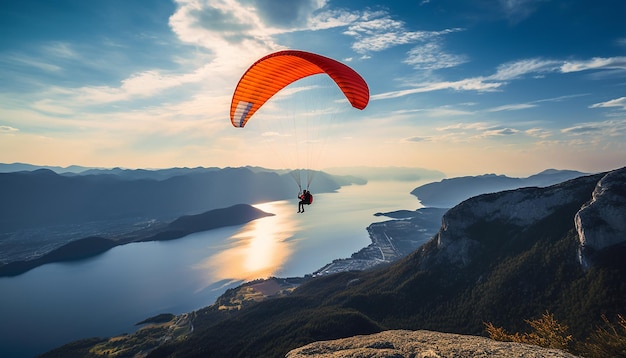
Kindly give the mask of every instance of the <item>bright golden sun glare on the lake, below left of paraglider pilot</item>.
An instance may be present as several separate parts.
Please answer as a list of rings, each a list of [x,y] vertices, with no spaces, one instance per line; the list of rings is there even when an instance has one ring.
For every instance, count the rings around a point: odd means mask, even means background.
[[[197,268],[205,271],[207,282],[269,277],[291,255],[290,239],[297,230],[293,205],[275,201],[254,206],[275,215],[245,224],[228,239],[227,249],[203,260]]]

